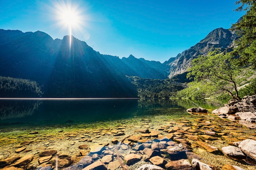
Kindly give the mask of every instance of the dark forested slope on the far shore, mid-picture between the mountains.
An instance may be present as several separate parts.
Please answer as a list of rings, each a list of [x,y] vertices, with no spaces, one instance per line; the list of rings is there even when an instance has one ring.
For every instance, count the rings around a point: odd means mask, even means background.
[[[144,79],[141,77],[130,77],[135,85],[140,98],[170,98],[177,91],[184,89],[184,85],[172,79]]]

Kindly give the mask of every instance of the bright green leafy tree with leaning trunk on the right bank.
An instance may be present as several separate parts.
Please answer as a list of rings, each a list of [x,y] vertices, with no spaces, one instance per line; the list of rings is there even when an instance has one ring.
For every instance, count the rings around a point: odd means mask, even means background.
[[[202,82],[204,88],[211,91],[228,93],[231,98],[240,100],[237,90],[240,67],[230,53],[210,52],[207,56],[199,55],[192,60],[188,77]],[[233,92],[235,94],[233,94]]]

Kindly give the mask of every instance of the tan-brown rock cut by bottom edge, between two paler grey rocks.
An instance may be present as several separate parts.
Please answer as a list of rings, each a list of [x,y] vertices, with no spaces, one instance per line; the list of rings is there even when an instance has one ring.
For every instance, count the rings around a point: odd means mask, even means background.
[[[180,159],[177,161],[170,161],[165,165],[167,170],[194,170],[186,159]]]

